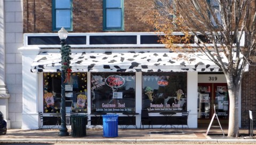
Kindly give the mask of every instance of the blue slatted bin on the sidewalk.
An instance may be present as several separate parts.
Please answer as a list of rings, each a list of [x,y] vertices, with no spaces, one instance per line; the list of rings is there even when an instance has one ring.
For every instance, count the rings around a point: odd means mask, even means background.
[[[103,115],[103,137],[118,137],[118,115]]]

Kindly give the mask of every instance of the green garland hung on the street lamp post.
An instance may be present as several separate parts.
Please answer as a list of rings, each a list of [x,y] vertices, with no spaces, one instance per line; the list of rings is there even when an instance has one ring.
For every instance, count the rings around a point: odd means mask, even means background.
[[[61,47],[61,69],[67,73],[68,69],[71,69],[70,60],[72,59],[69,55],[71,55],[71,47],[69,45],[64,45]]]

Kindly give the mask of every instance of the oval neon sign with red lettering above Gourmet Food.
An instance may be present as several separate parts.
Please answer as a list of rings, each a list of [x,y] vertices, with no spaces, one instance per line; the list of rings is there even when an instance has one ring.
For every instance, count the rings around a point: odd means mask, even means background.
[[[125,84],[125,79],[123,79],[122,76],[119,75],[110,75],[107,77],[105,82],[107,86],[118,88]]]

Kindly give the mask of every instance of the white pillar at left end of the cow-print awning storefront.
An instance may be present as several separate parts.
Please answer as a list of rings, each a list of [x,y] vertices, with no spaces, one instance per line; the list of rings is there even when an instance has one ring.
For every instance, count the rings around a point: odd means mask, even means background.
[[[22,54],[22,126],[21,129],[38,129],[38,75],[30,72],[31,64],[40,52],[38,47],[21,47]]]

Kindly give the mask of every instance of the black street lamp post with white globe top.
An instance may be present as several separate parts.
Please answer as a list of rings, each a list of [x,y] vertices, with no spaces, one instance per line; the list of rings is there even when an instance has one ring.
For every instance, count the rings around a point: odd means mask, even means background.
[[[60,44],[61,44],[61,108],[60,108],[60,113],[61,113],[61,126],[59,129],[58,135],[60,137],[65,137],[68,136],[67,132],[67,126],[66,126],[66,99],[65,99],[65,69],[63,68],[64,59],[63,59],[63,49],[65,49],[65,44],[66,44],[66,38],[67,38],[68,32],[64,29],[61,28],[58,31],[58,35],[60,38]]]

